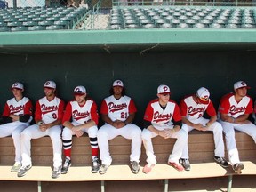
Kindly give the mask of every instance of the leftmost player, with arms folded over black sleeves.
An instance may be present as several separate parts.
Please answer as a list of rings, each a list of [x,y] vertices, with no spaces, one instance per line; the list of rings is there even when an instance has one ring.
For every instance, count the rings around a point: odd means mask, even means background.
[[[15,164],[11,172],[18,172],[21,167],[20,132],[22,132],[32,120],[32,102],[23,97],[24,86],[16,82],[12,84],[14,98],[7,100],[4,106],[0,125],[0,138],[12,135],[15,148]]]

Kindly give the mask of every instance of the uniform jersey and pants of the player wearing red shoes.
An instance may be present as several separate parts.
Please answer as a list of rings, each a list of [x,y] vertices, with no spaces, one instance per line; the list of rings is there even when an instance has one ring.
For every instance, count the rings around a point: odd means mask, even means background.
[[[164,109],[160,106],[158,99],[151,100],[146,108],[144,120],[151,122],[154,128],[159,131],[172,129],[175,125],[173,124],[173,120],[175,122],[181,121],[180,108],[173,100],[169,100]],[[142,140],[148,156],[148,164],[156,164],[156,156],[152,144],[152,138],[155,138],[156,136],[157,134],[149,131],[147,127],[142,131]],[[183,129],[180,129],[179,132],[173,133],[171,137],[176,138],[177,140],[172,149],[172,154],[169,156],[168,162],[179,164],[183,148],[188,143],[188,134]]]

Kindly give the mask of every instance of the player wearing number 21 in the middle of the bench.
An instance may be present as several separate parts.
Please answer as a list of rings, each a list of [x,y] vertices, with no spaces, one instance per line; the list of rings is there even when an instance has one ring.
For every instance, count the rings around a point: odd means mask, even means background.
[[[116,80],[111,89],[111,96],[102,101],[100,114],[102,120],[106,123],[98,131],[98,142],[100,148],[100,174],[108,170],[112,163],[109,154],[108,140],[121,135],[125,139],[132,140],[132,154],[130,156],[132,172],[140,171],[140,148],[141,148],[141,130],[132,124],[137,109],[133,100],[124,95],[124,84],[121,80]]]

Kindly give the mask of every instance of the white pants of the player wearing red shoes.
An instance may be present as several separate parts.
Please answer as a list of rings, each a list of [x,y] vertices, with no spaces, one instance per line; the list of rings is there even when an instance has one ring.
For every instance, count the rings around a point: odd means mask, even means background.
[[[152,144],[152,138],[155,138],[156,136],[158,135],[155,132],[151,132],[146,128],[142,131],[142,141],[146,150],[148,164],[156,164],[156,156]],[[183,148],[188,145],[188,134],[180,129],[179,132],[172,134],[172,138],[176,138],[177,140],[173,146],[168,162],[179,163]]]

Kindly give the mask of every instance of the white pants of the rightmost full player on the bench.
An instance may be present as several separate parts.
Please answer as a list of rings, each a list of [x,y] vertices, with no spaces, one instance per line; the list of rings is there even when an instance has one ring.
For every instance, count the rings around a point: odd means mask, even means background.
[[[220,124],[223,127],[223,131],[225,133],[226,144],[228,149],[228,157],[230,163],[236,164],[240,163],[238,150],[236,148],[236,138],[235,138],[235,130],[239,132],[245,132],[250,135],[254,142],[256,143],[256,126],[255,124],[232,124],[228,122],[223,122],[219,120]]]

